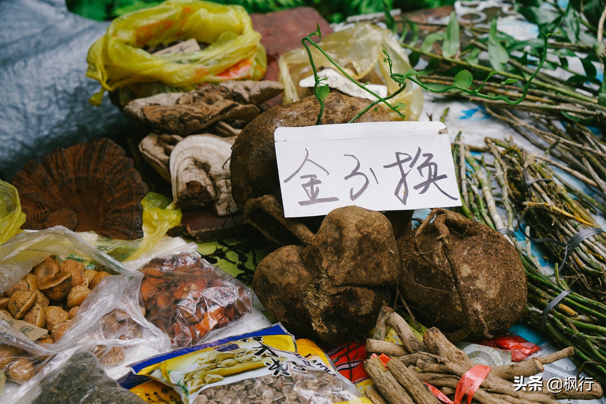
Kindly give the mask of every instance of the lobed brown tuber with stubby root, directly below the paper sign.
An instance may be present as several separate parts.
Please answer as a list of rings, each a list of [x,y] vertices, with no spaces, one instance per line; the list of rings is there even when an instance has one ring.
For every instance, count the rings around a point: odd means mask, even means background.
[[[328,345],[370,331],[400,274],[387,217],[356,206],[337,208],[313,234],[284,219],[275,197],[251,199],[251,208],[276,217],[304,245],[279,248],[259,263],[253,288],[269,313],[293,333]]]

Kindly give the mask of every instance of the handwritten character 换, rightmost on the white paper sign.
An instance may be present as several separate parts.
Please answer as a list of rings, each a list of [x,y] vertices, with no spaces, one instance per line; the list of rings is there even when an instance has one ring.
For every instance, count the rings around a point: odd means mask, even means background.
[[[413,169],[413,167],[415,167],[415,164],[418,162],[419,157],[421,155],[425,157],[425,161],[417,167],[417,170],[419,171],[421,177],[424,177],[423,170],[427,168],[427,179],[415,185],[413,189],[419,190],[422,188],[421,191],[419,191],[419,194],[424,194],[429,189],[431,184],[433,184],[445,196],[453,200],[458,200],[458,198],[450,196],[444,190],[442,190],[442,188],[439,187],[437,182],[439,180],[447,178],[448,176],[446,174],[438,175],[438,164],[431,161],[431,159],[433,159],[433,154],[421,154],[421,147],[417,148],[415,157],[411,156],[408,153],[401,153],[399,151],[396,151],[396,162],[383,166],[384,168],[398,167],[400,170],[400,180],[398,181],[398,185],[396,185],[396,191],[394,193],[395,196],[400,200],[400,202],[402,202],[402,204],[406,205],[406,201],[408,199],[407,176],[408,173],[410,173],[410,171]],[[401,157],[403,156],[406,157],[402,159]],[[410,168],[410,170],[404,171],[404,164],[408,163],[409,161],[410,164],[408,164],[408,168]],[[402,190],[402,188],[404,188],[404,190]]]

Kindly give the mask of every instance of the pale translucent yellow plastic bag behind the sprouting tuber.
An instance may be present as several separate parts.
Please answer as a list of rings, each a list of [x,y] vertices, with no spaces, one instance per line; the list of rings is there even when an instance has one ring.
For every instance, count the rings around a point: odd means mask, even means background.
[[[393,62],[394,73],[406,73],[410,68],[408,56],[390,31],[371,24],[357,24],[342,31],[322,36],[318,45],[341,66],[348,75],[361,83],[387,85],[387,94],[398,90],[398,83],[389,77],[389,65],[383,61],[387,51]],[[328,59],[315,47],[311,47],[313,62],[318,71],[333,68]],[[299,81],[313,74],[305,48],[297,48],[280,56],[280,82],[284,85],[284,104],[313,95],[311,88],[299,86]],[[336,70],[336,69],[335,69]],[[416,121],[423,109],[423,93],[420,87],[408,82],[406,90],[390,99],[390,104],[405,104],[401,108],[406,121]],[[370,104],[370,102],[369,102]],[[391,118],[401,121],[385,104],[379,104],[390,113]]]

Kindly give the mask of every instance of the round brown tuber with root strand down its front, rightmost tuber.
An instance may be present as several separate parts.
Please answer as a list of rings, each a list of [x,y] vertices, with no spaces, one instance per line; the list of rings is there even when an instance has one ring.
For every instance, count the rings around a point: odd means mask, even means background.
[[[488,226],[435,208],[398,240],[398,249],[400,293],[448,339],[490,338],[522,316],[524,267],[511,243]]]

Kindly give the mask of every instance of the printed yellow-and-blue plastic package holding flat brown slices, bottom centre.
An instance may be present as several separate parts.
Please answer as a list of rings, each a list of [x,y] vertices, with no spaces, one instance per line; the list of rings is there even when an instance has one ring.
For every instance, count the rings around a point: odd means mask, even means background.
[[[296,353],[293,336],[281,324],[178,349],[131,368],[133,374],[119,382],[142,399],[151,398],[149,389],[157,390],[160,382],[175,389],[185,404],[370,404],[351,383]]]

